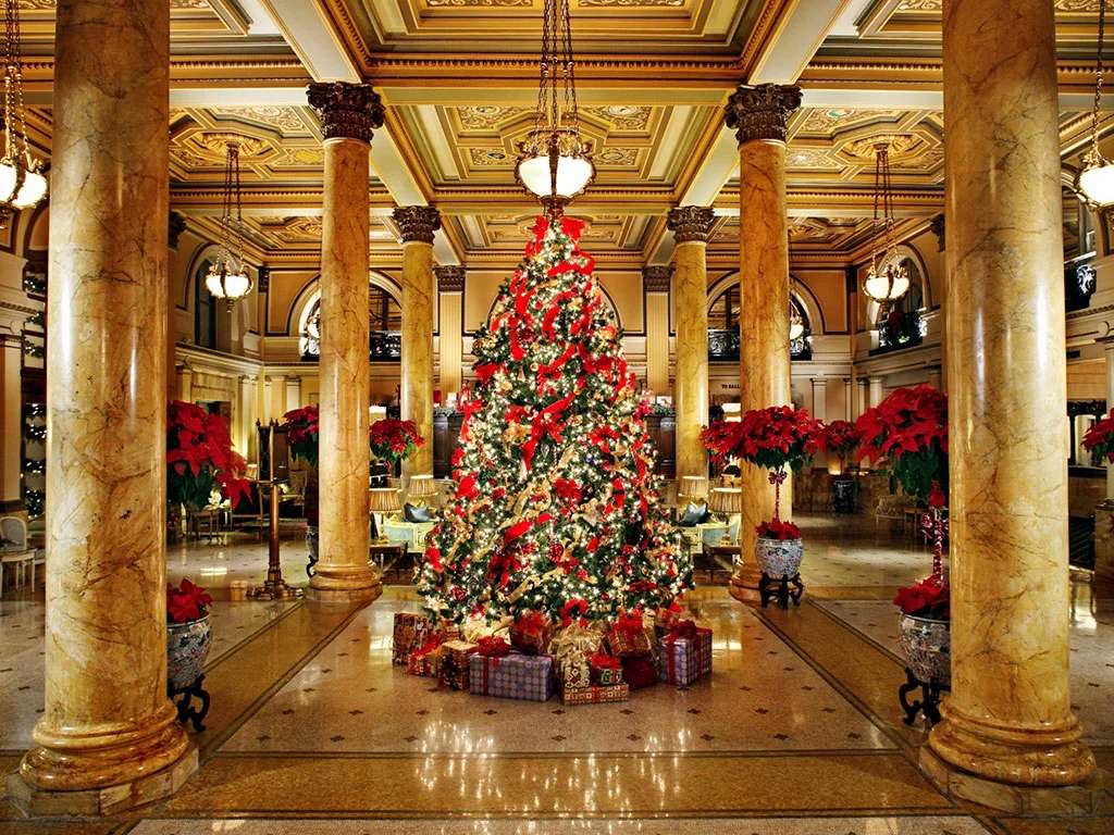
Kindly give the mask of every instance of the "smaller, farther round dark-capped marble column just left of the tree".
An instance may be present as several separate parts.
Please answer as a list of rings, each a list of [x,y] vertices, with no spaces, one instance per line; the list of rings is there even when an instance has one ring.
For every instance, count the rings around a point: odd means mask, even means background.
[[[402,465],[403,475],[433,472],[433,233],[432,206],[398,206],[402,233],[402,419],[418,424],[426,443]]]

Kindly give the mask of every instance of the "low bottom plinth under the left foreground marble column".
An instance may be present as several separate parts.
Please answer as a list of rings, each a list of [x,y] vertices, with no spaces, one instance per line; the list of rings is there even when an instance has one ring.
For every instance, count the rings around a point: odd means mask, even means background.
[[[8,799],[28,817],[106,817],[165,800],[196,770],[197,748],[190,745],[177,762],[160,770],[98,788],[60,792],[12,774],[8,777]]]

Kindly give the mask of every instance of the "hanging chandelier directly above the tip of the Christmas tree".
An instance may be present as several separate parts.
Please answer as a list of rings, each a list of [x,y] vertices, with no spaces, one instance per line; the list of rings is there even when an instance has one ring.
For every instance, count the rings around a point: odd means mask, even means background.
[[[541,63],[534,129],[519,145],[515,177],[559,216],[596,176],[580,136],[573,63],[569,0],[546,0],[541,23]]]

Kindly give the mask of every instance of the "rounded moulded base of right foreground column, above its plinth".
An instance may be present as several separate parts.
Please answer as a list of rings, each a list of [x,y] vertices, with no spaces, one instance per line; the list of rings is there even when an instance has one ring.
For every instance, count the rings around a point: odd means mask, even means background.
[[[944,719],[930,731],[926,748],[950,768],[978,774],[990,784],[1074,786],[1095,770],[1095,757],[1081,740],[1083,731],[1074,716],[1059,725],[1010,727],[975,719],[948,701],[940,715]]]

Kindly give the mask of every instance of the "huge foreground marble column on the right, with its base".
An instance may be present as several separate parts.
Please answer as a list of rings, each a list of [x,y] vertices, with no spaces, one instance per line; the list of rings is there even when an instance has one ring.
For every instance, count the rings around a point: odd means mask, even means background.
[[[951,694],[921,765],[1014,812],[1085,802],[1048,787],[1095,769],[1068,692],[1055,46],[1046,0],[944,4]]]

